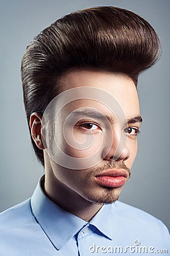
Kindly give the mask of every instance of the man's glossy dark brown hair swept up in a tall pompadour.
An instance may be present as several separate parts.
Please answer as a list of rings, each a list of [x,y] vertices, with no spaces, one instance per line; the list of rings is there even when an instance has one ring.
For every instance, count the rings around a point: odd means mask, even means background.
[[[22,59],[28,125],[30,115],[42,115],[59,93],[59,78],[66,71],[88,68],[122,73],[137,85],[139,73],[159,59],[161,49],[154,28],[125,9],[94,7],[58,19],[33,39]],[[44,166],[43,151],[33,139],[32,144]]]

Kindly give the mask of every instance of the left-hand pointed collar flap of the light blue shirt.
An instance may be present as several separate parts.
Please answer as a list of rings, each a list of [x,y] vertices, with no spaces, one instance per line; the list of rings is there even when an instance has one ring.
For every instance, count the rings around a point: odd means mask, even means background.
[[[44,176],[32,195],[32,212],[46,236],[59,250],[87,222],[54,204],[41,189],[43,181]]]

